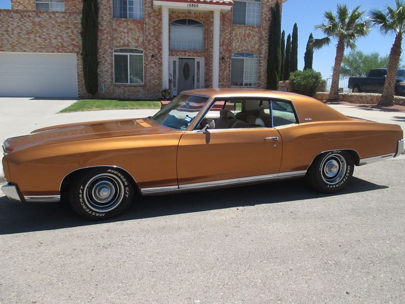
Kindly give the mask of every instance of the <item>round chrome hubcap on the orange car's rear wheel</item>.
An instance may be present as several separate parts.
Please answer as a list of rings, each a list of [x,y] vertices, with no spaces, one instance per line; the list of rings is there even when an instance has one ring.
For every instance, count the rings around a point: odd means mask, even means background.
[[[346,173],[346,160],[340,154],[331,154],[321,164],[322,179],[328,184],[340,182]]]

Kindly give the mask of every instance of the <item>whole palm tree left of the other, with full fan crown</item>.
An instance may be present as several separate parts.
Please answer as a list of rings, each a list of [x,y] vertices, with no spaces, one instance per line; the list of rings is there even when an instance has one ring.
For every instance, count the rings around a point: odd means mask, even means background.
[[[314,39],[312,43],[314,49],[329,45],[331,38],[336,39],[338,42],[329,100],[339,99],[340,65],[342,64],[345,49],[354,49],[357,39],[368,35],[371,30],[370,21],[362,18],[364,14],[365,12],[360,11],[360,6],[350,12],[346,5],[338,4],[336,13],[325,12],[323,15],[325,20],[321,24],[315,25],[316,29],[320,29],[326,34],[326,37]]]

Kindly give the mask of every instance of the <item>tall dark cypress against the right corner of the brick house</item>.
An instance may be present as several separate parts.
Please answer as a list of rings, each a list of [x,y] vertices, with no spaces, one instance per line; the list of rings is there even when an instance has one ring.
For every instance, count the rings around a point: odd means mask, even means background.
[[[281,18],[278,1],[271,9],[270,37],[267,57],[267,89],[278,90],[281,68]]]

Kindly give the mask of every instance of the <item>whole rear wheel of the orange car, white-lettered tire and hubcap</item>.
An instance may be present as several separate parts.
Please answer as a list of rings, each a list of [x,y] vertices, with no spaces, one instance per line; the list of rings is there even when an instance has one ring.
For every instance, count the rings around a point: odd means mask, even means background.
[[[343,189],[353,175],[352,156],[343,150],[321,154],[308,170],[307,178],[313,188],[323,193],[334,193]]]

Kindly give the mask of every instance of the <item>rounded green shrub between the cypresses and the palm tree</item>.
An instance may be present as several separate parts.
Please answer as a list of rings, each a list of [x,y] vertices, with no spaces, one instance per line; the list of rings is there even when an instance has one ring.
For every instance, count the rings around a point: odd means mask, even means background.
[[[295,71],[290,75],[290,91],[312,96],[322,81],[322,75],[313,69]]]

